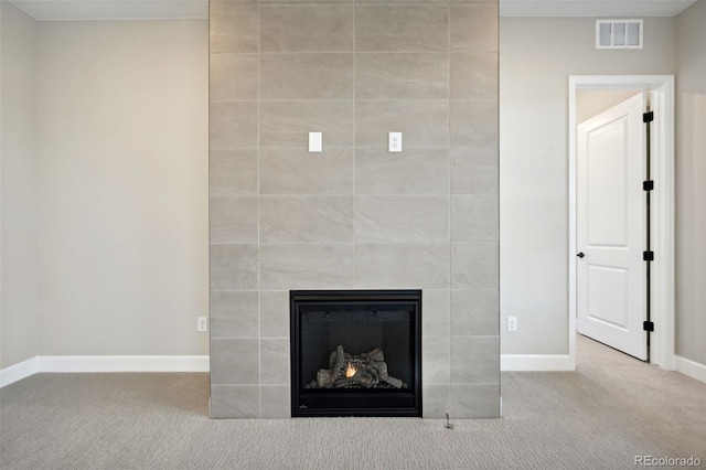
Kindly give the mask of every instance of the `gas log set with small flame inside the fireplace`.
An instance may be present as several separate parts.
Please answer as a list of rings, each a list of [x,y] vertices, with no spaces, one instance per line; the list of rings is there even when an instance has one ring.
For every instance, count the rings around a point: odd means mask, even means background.
[[[320,368],[307,388],[407,388],[407,384],[387,373],[379,348],[353,355],[339,345],[329,357],[329,368]]]

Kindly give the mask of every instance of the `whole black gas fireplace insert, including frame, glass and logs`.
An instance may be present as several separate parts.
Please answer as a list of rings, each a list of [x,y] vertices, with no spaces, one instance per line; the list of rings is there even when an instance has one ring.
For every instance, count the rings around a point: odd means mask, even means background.
[[[291,416],[421,416],[421,290],[292,290]]]

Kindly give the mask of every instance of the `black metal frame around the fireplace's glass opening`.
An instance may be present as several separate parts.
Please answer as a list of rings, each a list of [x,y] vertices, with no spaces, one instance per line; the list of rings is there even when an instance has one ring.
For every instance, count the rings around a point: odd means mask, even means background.
[[[406,389],[330,391],[300,386],[300,306],[375,302],[409,307],[411,380]],[[291,416],[404,416],[421,417],[421,290],[291,290]]]

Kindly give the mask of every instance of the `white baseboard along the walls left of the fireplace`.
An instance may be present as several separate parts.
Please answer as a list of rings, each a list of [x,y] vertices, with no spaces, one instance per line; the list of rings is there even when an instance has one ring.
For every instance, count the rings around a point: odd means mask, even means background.
[[[0,387],[40,372],[208,372],[207,355],[38,355],[0,371]]]

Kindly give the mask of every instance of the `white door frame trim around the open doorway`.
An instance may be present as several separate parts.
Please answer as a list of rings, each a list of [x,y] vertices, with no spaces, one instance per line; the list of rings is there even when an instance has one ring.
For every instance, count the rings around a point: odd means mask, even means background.
[[[653,92],[651,109],[652,180],[651,236],[655,253],[652,261],[650,363],[675,370],[674,359],[674,75],[571,75],[568,109],[569,179],[569,321],[568,343],[571,368],[576,368],[576,92],[579,89],[641,89]]]

